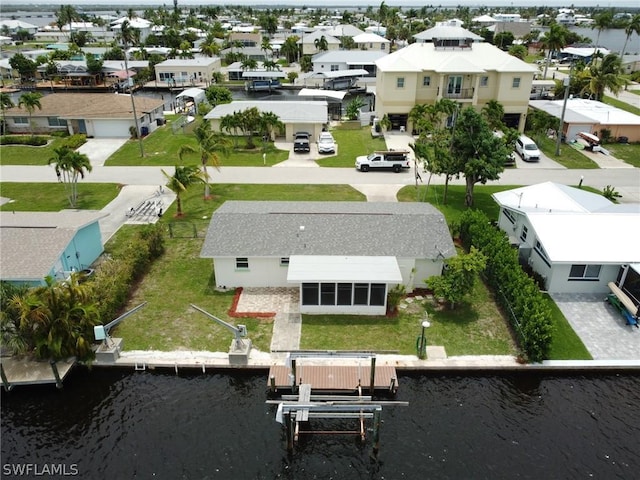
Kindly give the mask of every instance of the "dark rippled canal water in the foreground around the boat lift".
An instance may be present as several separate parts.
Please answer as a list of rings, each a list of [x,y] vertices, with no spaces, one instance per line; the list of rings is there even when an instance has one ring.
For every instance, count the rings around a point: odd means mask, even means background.
[[[377,456],[371,435],[306,436],[288,454],[266,374],[78,369],[61,391],[2,393],[0,476],[53,465],[87,479],[637,478],[640,375],[399,383],[409,406],[383,408]]]

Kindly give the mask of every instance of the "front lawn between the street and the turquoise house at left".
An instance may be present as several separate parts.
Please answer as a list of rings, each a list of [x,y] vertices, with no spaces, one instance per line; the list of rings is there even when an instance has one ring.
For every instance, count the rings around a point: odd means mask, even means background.
[[[51,174],[54,175],[53,170]],[[100,210],[120,193],[115,183],[78,182],[78,206],[82,210]],[[4,211],[57,212],[70,208],[61,183],[0,183],[0,195],[14,200],[0,207]]]

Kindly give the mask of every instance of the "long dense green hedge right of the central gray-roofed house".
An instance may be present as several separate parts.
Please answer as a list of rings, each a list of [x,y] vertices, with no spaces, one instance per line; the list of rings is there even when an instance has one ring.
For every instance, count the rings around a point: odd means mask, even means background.
[[[536,282],[520,266],[507,236],[491,225],[484,213],[468,210],[460,219],[460,239],[467,251],[473,245],[487,256],[485,276],[509,314],[527,359],[540,362],[548,358],[553,334],[551,309]]]

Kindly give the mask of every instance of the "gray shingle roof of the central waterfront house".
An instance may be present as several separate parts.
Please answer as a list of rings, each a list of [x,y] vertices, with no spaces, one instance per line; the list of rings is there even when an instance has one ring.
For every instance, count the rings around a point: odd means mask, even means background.
[[[429,204],[229,201],[213,214],[200,256],[439,254],[453,256],[455,248]]]

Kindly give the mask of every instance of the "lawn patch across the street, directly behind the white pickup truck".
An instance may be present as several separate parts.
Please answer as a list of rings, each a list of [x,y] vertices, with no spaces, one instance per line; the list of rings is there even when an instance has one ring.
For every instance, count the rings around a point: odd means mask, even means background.
[[[321,167],[354,168],[356,157],[387,148],[383,137],[371,136],[370,127],[338,127],[331,130],[331,133],[338,145],[338,154],[319,159],[317,163]]]

